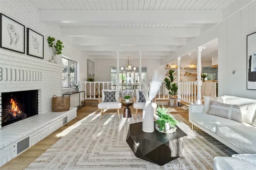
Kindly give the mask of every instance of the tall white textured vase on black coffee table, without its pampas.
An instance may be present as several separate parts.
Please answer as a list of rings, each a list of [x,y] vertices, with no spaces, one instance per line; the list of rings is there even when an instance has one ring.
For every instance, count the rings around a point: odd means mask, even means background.
[[[154,108],[150,101],[146,101],[142,114],[142,131],[152,133],[154,129]]]

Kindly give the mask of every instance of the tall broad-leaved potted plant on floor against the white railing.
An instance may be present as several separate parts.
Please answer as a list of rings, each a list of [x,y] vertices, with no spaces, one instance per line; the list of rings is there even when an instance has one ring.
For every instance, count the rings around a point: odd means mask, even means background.
[[[175,74],[176,73],[174,70],[169,70],[169,72],[167,73],[167,76],[169,78],[164,79],[164,86],[169,91],[170,106],[172,106],[172,107],[178,107],[178,98],[177,98],[177,96],[175,97],[175,95],[178,94],[178,84],[174,83],[174,80],[176,79],[176,78],[174,78]]]

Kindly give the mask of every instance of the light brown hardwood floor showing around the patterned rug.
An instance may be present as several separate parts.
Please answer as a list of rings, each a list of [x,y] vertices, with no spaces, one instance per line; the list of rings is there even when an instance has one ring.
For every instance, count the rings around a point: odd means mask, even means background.
[[[169,106],[165,106],[168,108]],[[135,109],[130,106],[131,112],[132,112],[132,118],[134,118]],[[120,109],[120,117],[123,114],[124,106]],[[43,154],[48,148],[50,148],[54,143],[56,143],[58,140],[60,140],[61,137],[56,136],[58,133],[62,132],[69,126],[75,124],[79,120],[85,118],[92,112],[100,113],[100,110],[98,110],[97,105],[93,106],[85,106],[77,111],[77,117],[68,122],[66,125],[62,126],[52,134],[50,134],[48,137],[46,137],[44,140],[38,142],[36,145],[29,148],[26,152],[20,154],[20,156],[14,158],[4,166],[0,168],[0,170],[23,170],[26,168],[30,163],[32,163],[36,158],[38,158],[41,154]],[[107,110],[106,113],[115,112],[115,110]],[[184,118],[188,120],[188,110],[184,110],[181,107],[177,108],[169,108],[168,112],[171,114],[180,114]],[[142,110],[138,110],[138,113],[142,113]],[[117,116],[117,115],[116,115]]]

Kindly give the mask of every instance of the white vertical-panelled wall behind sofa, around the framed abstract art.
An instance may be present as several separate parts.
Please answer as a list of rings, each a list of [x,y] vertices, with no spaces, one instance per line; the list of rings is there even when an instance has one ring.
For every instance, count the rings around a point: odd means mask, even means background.
[[[256,2],[219,25],[219,96],[256,99],[256,90],[246,90],[246,36],[253,32],[256,32]],[[233,70],[236,74],[232,74]]]

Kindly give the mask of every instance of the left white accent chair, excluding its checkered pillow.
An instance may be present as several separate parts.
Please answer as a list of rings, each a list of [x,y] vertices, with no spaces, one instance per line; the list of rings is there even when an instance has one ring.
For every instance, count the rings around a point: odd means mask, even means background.
[[[106,96],[105,96],[104,92],[115,92],[115,100],[116,101],[115,102],[107,102],[105,100]],[[102,114],[104,114],[104,109],[116,109],[118,112],[118,118],[120,119],[119,109],[121,107],[122,107],[121,98],[118,97],[117,90],[102,90],[102,98],[99,98],[99,104],[98,104],[98,108],[101,110],[100,111],[100,120],[101,120]]]

